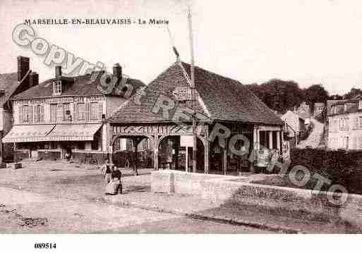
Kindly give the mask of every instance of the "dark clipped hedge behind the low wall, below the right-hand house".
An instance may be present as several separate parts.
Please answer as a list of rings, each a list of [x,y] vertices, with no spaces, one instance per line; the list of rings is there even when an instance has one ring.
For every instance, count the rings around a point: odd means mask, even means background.
[[[296,165],[343,185],[349,193],[362,194],[362,151],[292,149],[289,169]]]

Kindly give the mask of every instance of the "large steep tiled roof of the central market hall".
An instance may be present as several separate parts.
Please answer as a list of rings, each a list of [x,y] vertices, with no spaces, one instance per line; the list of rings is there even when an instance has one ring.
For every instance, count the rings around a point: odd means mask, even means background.
[[[160,94],[171,98],[175,87],[189,87],[189,76],[189,64],[174,63],[147,86],[145,94],[140,96],[139,103],[130,99],[109,118],[109,121],[113,123],[169,121],[170,119],[152,113],[152,108]],[[199,95],[198,101],[195,102],[197,111],[212,120],[283,124],[271,109],[236,80],[195,67],[195,89]],[[176,101],[175,107],[177,106],[191,108],[190,101],[185,104]],[[175,110],[170,110],[170,114],[172,115]]]

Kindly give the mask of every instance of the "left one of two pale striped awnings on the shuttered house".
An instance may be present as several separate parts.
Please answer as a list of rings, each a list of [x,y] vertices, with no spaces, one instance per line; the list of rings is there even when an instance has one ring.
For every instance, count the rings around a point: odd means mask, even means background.
[[[44,142],[55,125],[14,125],[2,142]]]

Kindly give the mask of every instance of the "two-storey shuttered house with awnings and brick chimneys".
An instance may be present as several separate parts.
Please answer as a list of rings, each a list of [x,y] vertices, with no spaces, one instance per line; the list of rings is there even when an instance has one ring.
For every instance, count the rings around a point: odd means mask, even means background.
[[[20,73],[28,73],[25,62],[29,58],[20,57]],[[13,127],[2,142],[13,144],[17,160],[102,163],[109,156],[109,126],[104,119],[144,86],[123,75],[118,63],[112,74],[97,71],[74,77],[62,75],[61,66],[56,66],[54,78],[38,80],[37,73],[30,73],[28,90],[11,98]]]

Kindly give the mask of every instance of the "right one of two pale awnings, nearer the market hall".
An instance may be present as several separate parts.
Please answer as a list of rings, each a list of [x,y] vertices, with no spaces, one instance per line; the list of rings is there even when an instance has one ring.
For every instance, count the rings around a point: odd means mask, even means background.
[[[102,124],[60,124],[47,135],[49,141],[93,140]]]

